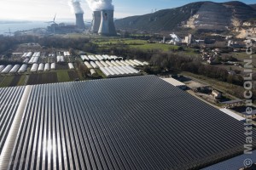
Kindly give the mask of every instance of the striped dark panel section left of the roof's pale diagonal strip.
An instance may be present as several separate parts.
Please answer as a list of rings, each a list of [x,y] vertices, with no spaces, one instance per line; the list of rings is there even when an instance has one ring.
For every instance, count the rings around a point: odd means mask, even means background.
[[[25,87],[0,88],[0,155]]]

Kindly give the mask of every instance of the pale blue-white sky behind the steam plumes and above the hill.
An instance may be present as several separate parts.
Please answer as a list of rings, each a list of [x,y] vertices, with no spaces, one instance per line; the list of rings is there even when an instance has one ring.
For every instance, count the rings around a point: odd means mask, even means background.
[[[81,0],[84,9],[84,19],[91,20],[92,11],[85,0]],[[199,0],[200,1],[200,0]],[[191,0],[113,0],[114,18],[148,14],[155,10],[176,8]],[[227,1],[215,0],[222,3]],[[256,3],[255,0],[241,1],[247,4]],[[71,8],[67,0],[0,0],[0,20],[52,20],[56,14],[57,20],[73,20]]]

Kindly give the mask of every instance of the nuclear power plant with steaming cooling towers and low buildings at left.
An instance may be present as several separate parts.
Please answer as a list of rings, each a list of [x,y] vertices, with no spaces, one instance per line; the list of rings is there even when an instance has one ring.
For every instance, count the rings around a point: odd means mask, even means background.
[[[65,26],[64,24],[56,24],[55,18],[49,23],[48,31],[51,33],[69,33],[72,31],[80,32],[85,30],[84,10],[81,7],[80,0],[69,0],[73,14],[76,17],[75,26]],[[93,12],[93,20],[91,22],[90,33],[102,36],[117,36],[115,26],[113,24],[113,5],[112,0],[87,1]]]

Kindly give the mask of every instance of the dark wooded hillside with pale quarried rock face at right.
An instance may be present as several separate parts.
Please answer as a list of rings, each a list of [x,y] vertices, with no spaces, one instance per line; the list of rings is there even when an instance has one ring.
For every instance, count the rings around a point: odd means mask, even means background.
[[[198,2],[115,20],[115,26],[117,29],[139,31],[172,31],[180,27],[226,30],[255,17],[256,9],[245,3]]]

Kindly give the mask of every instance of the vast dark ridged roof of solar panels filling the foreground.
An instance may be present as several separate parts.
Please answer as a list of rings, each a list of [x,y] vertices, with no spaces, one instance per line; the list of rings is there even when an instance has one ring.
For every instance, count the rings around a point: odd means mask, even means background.
[[[242,122],[155,76],[0,88],[0,99],[1,170],[201,169],[244,150]]]

